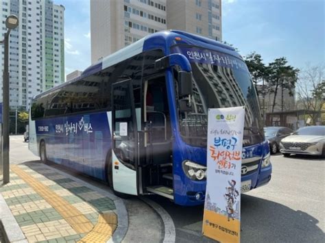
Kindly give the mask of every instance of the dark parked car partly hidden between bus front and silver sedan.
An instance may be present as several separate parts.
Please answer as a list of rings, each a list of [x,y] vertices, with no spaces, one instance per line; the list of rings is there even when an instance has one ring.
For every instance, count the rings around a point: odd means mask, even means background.
[[[293,131],[287,127],[264,127],[265,138],[269,141],[269,151],[277,153],[280,140],[289,136]]]

